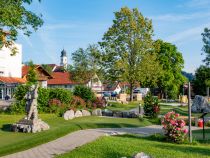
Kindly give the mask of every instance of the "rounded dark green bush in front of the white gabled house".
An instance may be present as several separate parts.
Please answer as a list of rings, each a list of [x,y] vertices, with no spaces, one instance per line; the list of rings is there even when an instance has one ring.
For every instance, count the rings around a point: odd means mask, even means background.
[[[94,92],[91,90],[91,88],[89,88],[87,86],[76,86],[74,88],[73,94],[75,96],[81,97],[86,102],[93,101],[95,99]]]

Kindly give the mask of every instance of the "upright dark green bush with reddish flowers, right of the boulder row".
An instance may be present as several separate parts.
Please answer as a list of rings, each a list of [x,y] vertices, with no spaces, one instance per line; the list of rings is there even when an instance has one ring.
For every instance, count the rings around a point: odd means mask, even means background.
[[[148,93],[144,98],[144,112],[146,116],[157,117],[160,112],[160,105],[158,98],[153,97],[151,93]]]

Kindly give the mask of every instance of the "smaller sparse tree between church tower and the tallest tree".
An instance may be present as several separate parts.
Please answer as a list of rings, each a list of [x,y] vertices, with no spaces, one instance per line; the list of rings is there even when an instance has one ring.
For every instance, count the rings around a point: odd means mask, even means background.
[[[100,51],[97,45],[89,45],[87,49],[79,48],[72,53],[73,66],[69,69],[73,80],[84,82],[97,74],[101,77]]]

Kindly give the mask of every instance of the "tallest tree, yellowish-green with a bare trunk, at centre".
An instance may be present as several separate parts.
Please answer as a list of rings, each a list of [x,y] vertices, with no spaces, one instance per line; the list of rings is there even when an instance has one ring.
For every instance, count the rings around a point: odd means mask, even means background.
[[[113,25],[99,42],[108,79],[129,82],[131,100],[142,56],[152,49],[152,35],[152,21],[138,9],[124,7],[115,12]]]

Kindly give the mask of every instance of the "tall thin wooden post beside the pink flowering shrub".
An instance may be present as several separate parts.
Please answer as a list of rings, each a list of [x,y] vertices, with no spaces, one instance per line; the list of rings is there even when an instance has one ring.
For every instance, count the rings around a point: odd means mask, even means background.
[[[192,129],[191,129],[191,94],[190,94],[190,82],[188,83],[188,132],[189,142],[192,143]]]

